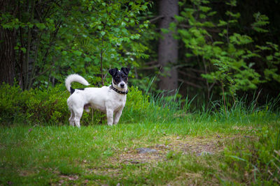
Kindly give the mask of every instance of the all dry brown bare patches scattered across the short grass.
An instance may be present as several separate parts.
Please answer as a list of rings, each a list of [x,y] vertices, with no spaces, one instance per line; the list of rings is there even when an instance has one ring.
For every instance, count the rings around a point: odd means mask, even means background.
[[[141,167],[146,167],[148,171],[149,167],[156,166],[158,162],[169,161],[167,153],[170,151],[174,153],[181,153],[181,155],[216,155],[221,153],[225,148],[226,144],[232,143],[235,140],[242,140],[246,137],[243,135],[232,135],[223,136],[221,134],[216,134],[213,137],[180,137],[177,135],[165,136],[158,140],[158,144],[153,144],[151,146],[143,146],[143,148],[153,149],[153,153],[139,153],[139,143],[135,141],[134,148],[119,151],[115,155],[106,160],[106,163],[102,167],[95,167],[90,169],[90,173],[97,175],[106,175],[112,178],[118,178],[123,175],[123,164],[127,165],[137,165]],[[141,169],[142,171],[144,169]],[[137,170],[135,170],[137,171]],[[197,180],[197,178],[202,178],[202,173],[186,173],[182,175],[183,180],[188,177],[186,183],[193,183],[192,180]],[[212,180],[214,181],[214,180]],[[174,180],[172,185],[180,185],[176,183],[181,183],[181,177]],[[216,183],[216,182],[214,182]]]

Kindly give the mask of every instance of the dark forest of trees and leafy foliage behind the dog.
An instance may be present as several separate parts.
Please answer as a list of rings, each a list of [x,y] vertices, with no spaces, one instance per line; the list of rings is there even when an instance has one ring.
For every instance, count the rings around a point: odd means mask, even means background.
[[[44,90],[129,66],[147,92],[224,104],[279,95],[279,1],[6,1],[0,82]]]

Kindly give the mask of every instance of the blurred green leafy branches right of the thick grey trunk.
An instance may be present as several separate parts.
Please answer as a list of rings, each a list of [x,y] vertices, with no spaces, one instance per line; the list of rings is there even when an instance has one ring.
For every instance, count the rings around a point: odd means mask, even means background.
[[[262,46],[255,45],[249,32],[244,34],[237,29],[241,13],[232,11],[237,1],[225,2],[228,10],[225,10],[223,20],[221,17],[217,20],[217,12],[209,1],[191,2],[193,5],[186,5],[185,1],[180,3],[183,10],[176,17],[177,37],[182,39],[188,51],[186,58],[204,66],[202,77],[207,79],[207,84],[225,86],[225,94],[230,94],[235,100],[238,90],[255,89],[258,84],[272,79],[279,82],[276,67],[280,62],[278,45],[268,41]],[[268,32],[265,28],[269,24],[268,17],[260,13],[253,17],[255,22],[251,29],[258,33]]]

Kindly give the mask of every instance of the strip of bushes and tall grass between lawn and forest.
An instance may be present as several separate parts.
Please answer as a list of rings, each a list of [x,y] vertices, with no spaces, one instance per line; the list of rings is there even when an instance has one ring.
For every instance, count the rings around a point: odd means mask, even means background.
[[[67,125],[70,116],[66,100],[69,93],[64,84],[44,90],[22,91],[19,86],[0,86],[0,123],[27,123],[31,125]],[[258,106],[255,98],[251,101],[241,98],[225,109],[223,99],[210,102],[209,107],[192,107],[195,98],[181,98],[178,92],[172,96],[163,93],[142,93],[137,86],[130,87],[121,123],[134,122],[224,122],[243,123],[269,121],[279,116],[279,98]],[[82,125],[106,123],[99,111],[84,111]]]

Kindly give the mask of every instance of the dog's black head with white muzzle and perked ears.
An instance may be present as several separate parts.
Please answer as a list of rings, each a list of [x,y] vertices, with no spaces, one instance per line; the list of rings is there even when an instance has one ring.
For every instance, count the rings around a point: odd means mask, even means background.
[[[113,77],[113,84],[118,86],[119,88],[127,88],[128,81],[128,73],[130,72],[130,68],[113,68],[109,70],[110,75]]]

